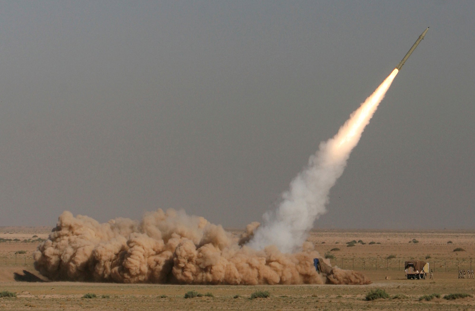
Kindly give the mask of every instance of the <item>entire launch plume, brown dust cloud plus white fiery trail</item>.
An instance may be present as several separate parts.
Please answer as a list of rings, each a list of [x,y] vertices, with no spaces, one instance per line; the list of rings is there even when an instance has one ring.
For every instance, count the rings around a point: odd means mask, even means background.
[[[338,134],[320,145],[308,167],[265,223],[240,236],[182,211],[157,210],[142,220],[99,223],[65,211],[34,253],[35,268],[52,280],[176,284],[369,284],[363,274],[331,267],[305,242],[325,212],[328,192],[383,99],[395,69],[354,111]],[[322,273],[314,267],[320,258]]]

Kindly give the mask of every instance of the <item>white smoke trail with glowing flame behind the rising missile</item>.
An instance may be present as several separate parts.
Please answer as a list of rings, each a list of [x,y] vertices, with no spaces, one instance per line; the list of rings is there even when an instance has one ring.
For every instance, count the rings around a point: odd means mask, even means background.
[[[283,201],[275,212],[264,214],[264,223],[255,231],[247,244],[256,249],[277,246],[281,252],[294,252],[307,238],[314,221],[325,213],[328,193],[342,175],[352,149],[358,144],[361,133],[370,122],[379,103],[388,91],[398,69],[355,110],[338,134],[322,142],[319,150],[308,161],[308,167],[290,183],[282,194]]]

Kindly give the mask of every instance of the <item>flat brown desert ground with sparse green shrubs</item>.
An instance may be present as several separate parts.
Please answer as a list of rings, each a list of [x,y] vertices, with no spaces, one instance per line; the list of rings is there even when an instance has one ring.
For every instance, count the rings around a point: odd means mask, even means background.
[[[50,230],[0,228],[0,292],[17,295],[0,298],[0,310],[475,310],[474,297],[443,299],[450,293],[475,296],[475,280],[458,279],[459,269],[475,269],[475,231],[315,230],[309,241],[322,256],[332,257],[332,265],[361,271],[373,283],[211,286],[48,282],[35,271],[32,253]],[[360,243],[348,247],[352,240]],[[409,259],[428,261],[434,280],[429,275],[407,280],[404,261]],[[366,294],[378,288],[390,298],[366,301]],[[212,297],[185,299],[189,291]],[[256,291],[270,296],[249,299]],[[86,293],[97,297],[83,298]],[[432,293],[441,297],[419,301]]]

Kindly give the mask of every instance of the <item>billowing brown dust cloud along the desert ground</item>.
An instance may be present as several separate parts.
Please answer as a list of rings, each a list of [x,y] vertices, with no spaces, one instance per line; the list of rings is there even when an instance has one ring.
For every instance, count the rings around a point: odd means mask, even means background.
[[[275,246],[255,250],[242,245],[258,225],[234,236],[183,211],[157,210],[140,222],[118,218],[106,223],[65,211],[33,256],[35,268],[51,280],[255,285],[335,284],[341,279],[332,277],[327,265],[326,273],[317,273],[313,258],[320,256],[312,243],[303,243],[295,254]],[[343,280],[370,283],[363,275]]]

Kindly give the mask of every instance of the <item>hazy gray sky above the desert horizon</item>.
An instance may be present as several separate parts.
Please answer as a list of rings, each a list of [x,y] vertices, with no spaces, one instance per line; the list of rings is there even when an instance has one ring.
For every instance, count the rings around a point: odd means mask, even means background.
[[[1,1],[0,226],[260,221],[430,26],[315,226],[473,228],[474,20],[473,1]]]

